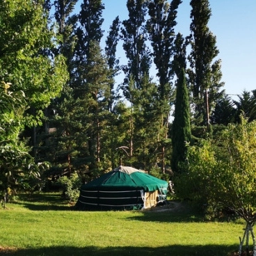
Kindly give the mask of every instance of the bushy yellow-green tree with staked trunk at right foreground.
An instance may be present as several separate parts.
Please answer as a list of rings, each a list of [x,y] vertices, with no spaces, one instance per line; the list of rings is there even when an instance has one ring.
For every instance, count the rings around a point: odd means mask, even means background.
[[[218,216],[236,213],[247,225],[240,250],[256,221],[256,122],[242,116],[240,124],[227,125],[216,138],[189,147],[189,170],[179,176],[179,196],[205,206]],[[246,239],[248,246],[248,239]],[[256,252],[255,252],[256,253]]]

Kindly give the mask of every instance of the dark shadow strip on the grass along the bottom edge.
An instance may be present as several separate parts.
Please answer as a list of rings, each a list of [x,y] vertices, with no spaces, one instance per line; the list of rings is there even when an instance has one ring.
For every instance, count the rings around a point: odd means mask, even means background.
[[[156,239],[157,242],[157,239]],[[236,250],[237,246],[165,246],[165,247],[111,247],[111,248],[97,248],[97,247],[49,247],[49,248],[28,248],[21,250],[9,250],[8,253],[0,255],[13,256],[143,256],[143,255],[175,255],[175,256],[227,256],[230,252]]]

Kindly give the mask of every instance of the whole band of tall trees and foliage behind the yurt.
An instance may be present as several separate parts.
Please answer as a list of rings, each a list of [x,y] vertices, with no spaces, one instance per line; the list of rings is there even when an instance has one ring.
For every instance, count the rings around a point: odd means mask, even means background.
[[[191,1],[184,37],[175,31],[182,1],[127,0],[128,17],[113,17],[104,50],[102,1],[50,3],[0,3],[3,190],[51,188],[74,173],[89,181],[120,163],[161,177],[172,166],[175,175],[186,170],[185,141],[207,138],[209,126],[216,138],[241,113],[255,120],[255,92],[234,101],[221,89],[209,1]]]

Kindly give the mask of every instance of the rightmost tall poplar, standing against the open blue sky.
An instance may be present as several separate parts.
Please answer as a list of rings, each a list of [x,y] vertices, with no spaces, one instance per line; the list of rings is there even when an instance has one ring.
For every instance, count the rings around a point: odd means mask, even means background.
[[[216,60],[216,37],[209,31],[209,0],[191,0],[189,86],[193,93],[195,125],[207,125],[216,100],[223,95],[221,61]]]

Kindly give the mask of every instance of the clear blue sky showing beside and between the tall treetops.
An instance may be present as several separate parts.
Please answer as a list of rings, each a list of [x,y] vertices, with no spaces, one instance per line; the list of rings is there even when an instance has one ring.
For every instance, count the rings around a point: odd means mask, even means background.
[[[80,0],[81,1],[81,0]],[[102,0],[103,29],[107,32],[113,19],[119,15],[127,19],[127,0]],[[177,32],[189,35],[191,23],[190,0],[183,0],[177,14]],[[211,19],[209,29],[217,39],[221,59],[222,81],[229,95],[241,95],[243,90],[256,89],[256,0],[210,0]],[[120,61],[125,61],[122,46]],[[232,96],[233,98],[235,96]]]

